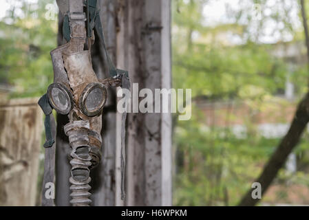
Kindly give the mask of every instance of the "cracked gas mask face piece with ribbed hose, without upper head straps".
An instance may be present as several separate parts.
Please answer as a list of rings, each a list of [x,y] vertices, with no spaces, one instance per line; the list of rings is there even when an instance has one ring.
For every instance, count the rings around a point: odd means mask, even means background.
[[[54,144],[54,140],[48,140],[52,139],[52,135],[48,135],[53,119],[51,109],[67,115],[70,120],[63,128],[72,148],[70,202],[73,206],[88,206],[91,203],[89,172],[98,166],[102,157],[101,114],[107,101],[107,86],[100,83],[94,73],[90,51],[74,52],[74,43],[69,41],[51,52],[54,83],[47,88],[40,105],[42,109],[46,107],[48,114],[45,119],[46,147]]]

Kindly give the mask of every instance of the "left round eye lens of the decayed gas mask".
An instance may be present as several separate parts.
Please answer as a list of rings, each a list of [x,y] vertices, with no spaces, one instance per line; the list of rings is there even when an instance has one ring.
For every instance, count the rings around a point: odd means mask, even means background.
[[[60,83],[53,83],[47,89],[48,100],[52,107],[63,115],[66,115],[71,111],[71,96],[70,91]]]

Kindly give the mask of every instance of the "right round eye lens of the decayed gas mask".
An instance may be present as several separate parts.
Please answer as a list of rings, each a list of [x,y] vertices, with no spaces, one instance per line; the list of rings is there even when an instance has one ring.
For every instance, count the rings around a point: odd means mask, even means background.
[[[107,98],[107,89],[102,83],[90,83],[85,87],[79,100],[79,107],[88,116],[98,115]]]

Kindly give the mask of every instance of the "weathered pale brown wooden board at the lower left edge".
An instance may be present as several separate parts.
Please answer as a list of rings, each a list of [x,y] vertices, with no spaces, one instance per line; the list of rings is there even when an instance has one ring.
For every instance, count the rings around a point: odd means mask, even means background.
[[[0,206],[34,206],[43,132],[38,98],[0,103]]]

